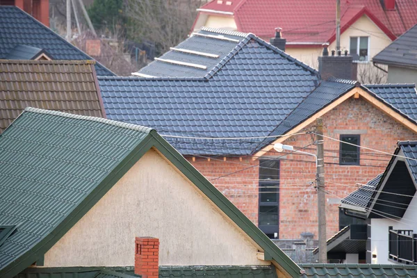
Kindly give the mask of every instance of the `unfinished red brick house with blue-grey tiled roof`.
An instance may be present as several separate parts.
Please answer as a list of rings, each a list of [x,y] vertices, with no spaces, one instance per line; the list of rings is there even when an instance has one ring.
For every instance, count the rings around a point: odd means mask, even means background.
[[[351,56],[322,63],[351,74]],[[417,133],[415,85],[322,80],[252,34],[204,28],[136,75],[99,77],[107,117],[155,126],[270,238],[317,237],[315,162],[278,154],[275,142],[316,152],[315,137],[306,132],[319,116],[326,136],[384,152]],[[332,235],[336,196],[382,172],[389,156],[330,139],[325,151]]]

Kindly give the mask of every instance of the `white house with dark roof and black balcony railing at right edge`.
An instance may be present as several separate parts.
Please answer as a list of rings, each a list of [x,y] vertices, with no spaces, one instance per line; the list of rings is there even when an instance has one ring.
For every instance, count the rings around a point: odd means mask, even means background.
[[[332,259],[350,256],[351,263],[417,264],[416,154],[416,141],[399,141],[386,170],[342,200],[345,214],[362,223],[343,228],[327,241]],[[356,234],[344,236],[352,227]]]

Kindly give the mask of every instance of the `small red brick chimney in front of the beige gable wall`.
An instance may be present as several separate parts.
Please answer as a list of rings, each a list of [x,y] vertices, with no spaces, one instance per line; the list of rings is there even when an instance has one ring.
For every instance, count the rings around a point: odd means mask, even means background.
[[[158,238],[136,237],[135,274],[142,278],[158,278],[159,266]]]

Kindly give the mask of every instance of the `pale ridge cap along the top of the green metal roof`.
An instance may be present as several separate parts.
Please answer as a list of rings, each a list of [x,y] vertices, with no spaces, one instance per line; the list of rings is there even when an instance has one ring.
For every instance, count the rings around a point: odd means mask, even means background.
[[[117,122],[115,120],[108,120],[104,119],[102,117],[91,117],[91,116],[83,116],[83,115],[75,115],[70,113],[64,113],[60,111],[51,111],[51,110],[45,110],[40,108],[33,108],[33,107],[26,107],[24,108],[24,111],[32,112],[32,113],[38,113],[38,114],[47,114],[47,115],[55,115],[59,117],[68,117],[71,119],[77,119],[77,120],[86,120],[86,121],[92,121],[92,122],[101,122],[103,124],[109,124],[112,126],[121,127],[123,129],[131,129],[134,131],[140,131],[149,133],[153,129],[147,126],[140,126],[138,124],[128,124],[126,122]]]

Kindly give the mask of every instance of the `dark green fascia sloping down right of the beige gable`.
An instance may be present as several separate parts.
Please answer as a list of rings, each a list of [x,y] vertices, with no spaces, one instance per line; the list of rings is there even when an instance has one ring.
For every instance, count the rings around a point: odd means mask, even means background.
[[[213,186],[198,170],[193,167],[179,152],[174,149],[156,131],[150,133],[155,138],[154,147],[161,152],[170,163],[199,188],[220,210],[222,210],[240,229],[242,229],[254,243],[259,245],[265,254],[269,254],[272,263],[281,268],[290,277],[299,277],[301,268],[291,260],[277,245],[272,243],[270,238],[265,236],[258,227],[255,226],[241,211],[232,204],[227,197]]]

